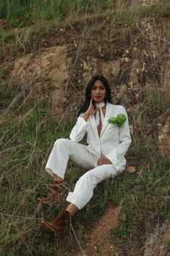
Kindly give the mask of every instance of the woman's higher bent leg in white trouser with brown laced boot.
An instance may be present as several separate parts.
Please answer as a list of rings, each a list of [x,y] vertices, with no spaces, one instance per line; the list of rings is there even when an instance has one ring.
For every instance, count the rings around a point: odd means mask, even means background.
[[[75,162],[75,164],[85,169],[93,168],[96,165],[95,156],[89,152],[86,146],[69,139],[58,139],[51,150],[46,164],[46,171],[54,179],[52,190],[48,197],[39,197],[38,200],[40,202],[61,201],[59,194],[61,194],[68,160]]]

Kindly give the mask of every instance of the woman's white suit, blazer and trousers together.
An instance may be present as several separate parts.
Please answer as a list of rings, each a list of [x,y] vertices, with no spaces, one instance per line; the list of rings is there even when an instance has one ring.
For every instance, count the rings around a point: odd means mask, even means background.
[[[88,172],[77,181],[75,190],[69,192],[67,196],[67,201],[72,202],[79,209],[84,207],[93,197],[93,189],[97,183],[110,176],[115,176],[125,168],[124,154],[131,143],[128,119],[122,128],[108,123],[109,117],[116,117],[119,114],[124,114],[127,117],[127,112],[123,106],[107,102],[100,137],[98,136],[95,116],[91,115],[86,122],[80,115],[69,135],[71,140],[58,139],[48,158],[46,171],[51,176],[56,173],[64,178],[68,160],[88,169]],[[88,146],[78,143],[85,136],[85,133],[87,133]],[[97,161],[101,154],[107,157],[111,164],[98,166]]]

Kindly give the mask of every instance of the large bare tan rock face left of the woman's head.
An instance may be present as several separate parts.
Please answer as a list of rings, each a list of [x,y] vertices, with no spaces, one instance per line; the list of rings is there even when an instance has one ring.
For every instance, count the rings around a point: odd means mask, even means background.
[[[17,60],[11,73],[12,80],[23,86],[33,84],[29,99],[43,99],[51,92],[52,106],[62,109],[68,86],[67,47],[53,46],[41,54],[27,54]]]

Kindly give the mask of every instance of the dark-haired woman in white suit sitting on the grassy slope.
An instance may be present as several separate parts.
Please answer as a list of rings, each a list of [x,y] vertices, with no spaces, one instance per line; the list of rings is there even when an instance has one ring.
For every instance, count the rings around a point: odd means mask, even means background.
[[[116,119],[119,114],[125,118],[122,125],[108,122],[109,117]],[[79,143],[85,133],[88,146]],[[48,197],[38,198],[40,202],[51,202],[56,197],[56,191],[61,191],[68,160],[88,170],[77,181],[74,191],[69,192],[67,208],[62,209],[51,222],[41,222],[58,236],[67,231],[70,216],[93,197],[95,186],[121,173],[126,165],[124,154],[131,143],[127,112],[123,106],[112,104],[109,83],[103,75],[90,79],[85,89],[85,102],[69,138],[56,140],[46,164],[46,171],[53,177],[54,185]]]

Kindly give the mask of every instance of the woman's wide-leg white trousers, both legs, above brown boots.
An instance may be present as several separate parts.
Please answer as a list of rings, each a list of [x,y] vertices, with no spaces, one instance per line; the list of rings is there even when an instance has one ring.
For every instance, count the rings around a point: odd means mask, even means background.
[[[51,176],[55,173],[64,179],[68,160],[88,170],[77,181],[74,191],[69,192],[67,196],[67,201],[76,205],[79,210],[93,197],[93,189],[99,182],[119,173],[112,164],[98,166],[98,157],[95,154],[89,152],[84,145],[70,139],[56,140],[46,164],[46,171]]]

